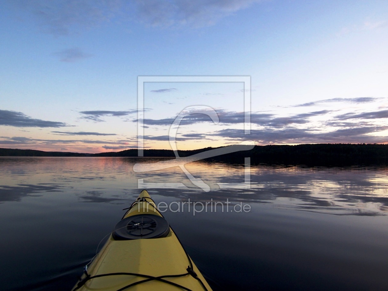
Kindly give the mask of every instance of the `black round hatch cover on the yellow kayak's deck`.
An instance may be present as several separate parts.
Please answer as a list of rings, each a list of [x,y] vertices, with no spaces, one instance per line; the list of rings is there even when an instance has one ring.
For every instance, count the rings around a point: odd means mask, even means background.
[[[153,214],[133,215],[120,220],[113,231],[116,240],[156,239],[167,236],[170,225],[163,217]]]

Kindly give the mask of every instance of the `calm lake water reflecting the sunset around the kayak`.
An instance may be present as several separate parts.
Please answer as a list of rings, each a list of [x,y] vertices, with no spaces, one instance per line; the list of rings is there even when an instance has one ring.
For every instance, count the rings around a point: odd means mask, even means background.
[[[387,167],[251,166],[243,189],[244,165],[187,164],[204,192],[179,167],[133,171],[161,160],[0,157],[1,289],[70,290],[140,183],[213,290],[388,290]]]

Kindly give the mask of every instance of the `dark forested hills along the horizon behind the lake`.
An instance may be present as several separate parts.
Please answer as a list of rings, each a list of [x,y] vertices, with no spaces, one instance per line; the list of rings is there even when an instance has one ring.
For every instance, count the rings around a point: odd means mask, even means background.
[[[188,157],[211,149],[217,148],[178,151],[178,154],[180,157]],[[137,149],[88,154],[0,148],[0,156],[22,157],[137,157],[137,154]],[[144,149],[144,157],[175,158],[175,154],[172,150],[166,149]],[[255,145],[248,151],[223,154],[207,160],[243,163],[246,157],[250,157],[252,165],[260,163],[307,166],[388,165],[388,144]]]

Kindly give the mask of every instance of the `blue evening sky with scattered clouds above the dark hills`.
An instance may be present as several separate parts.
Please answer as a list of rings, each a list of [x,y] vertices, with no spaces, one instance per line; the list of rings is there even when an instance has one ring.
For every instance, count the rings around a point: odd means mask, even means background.
[[[182,114],[178,149],[388,143],[385,0],[4,0],[0,29],[0,147],[171,149]]]

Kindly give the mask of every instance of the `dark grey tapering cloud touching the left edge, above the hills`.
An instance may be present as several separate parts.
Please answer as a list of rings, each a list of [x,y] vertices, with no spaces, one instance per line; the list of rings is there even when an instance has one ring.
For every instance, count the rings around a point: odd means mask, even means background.
[[[10,110],[0,110],[0,125],[17,127],[62,127],[68,126],[64,122],[47,121],[30,118],[24,113]]]

